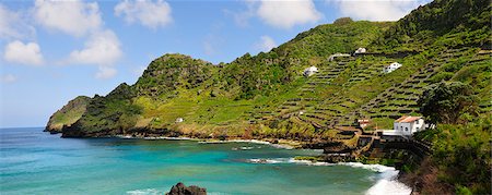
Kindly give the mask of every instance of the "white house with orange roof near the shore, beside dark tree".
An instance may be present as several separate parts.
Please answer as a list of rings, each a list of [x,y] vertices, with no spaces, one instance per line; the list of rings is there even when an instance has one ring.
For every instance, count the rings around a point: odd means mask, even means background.
[[[393,130],[384,131],[383,135],[410,136],[415,132],[423,131],[424,129],[425,122],[422,117],[403,115],[394,122]]]

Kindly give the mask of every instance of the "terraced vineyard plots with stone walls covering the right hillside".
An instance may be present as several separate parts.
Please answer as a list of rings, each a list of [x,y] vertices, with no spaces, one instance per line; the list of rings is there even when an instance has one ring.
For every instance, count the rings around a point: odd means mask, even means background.
[[[294,98],[286,99],[273,111],[251,111],[255,113],[251,123],[268,124],[274,120],[290,119],[297,125],[313,126],[318,133],[332,130],[341,133],[358,127],[354,123],[358,119],[372,119],[376,121],[375,127],[390,129],[395,119],[403,114],[419,114],[417,101],[436,78],[441,81],[440,72],[458,65],[459,69],[450,73],[453,76],[449,78],[453,78],[460,70],[487,65],[490,58],[491,52],[480,48],[445,49],[436,52],[425,64],[403,63],[403,68],[388,74],[383,73],[385,65],[398,61],[413,62],[414,56],[387,58],[378,53],[335,61],[326,59],[316,65],[318,73],[305,78]],[[488,77],[487,74],[482,76],[485,76],[481,77],[483,83]],[[353,93],[364,89],[371,93]],[[490,87],[476,94],[485,97],[490,94]],[[491,101],[482,99],[480,112],[490,113]]]

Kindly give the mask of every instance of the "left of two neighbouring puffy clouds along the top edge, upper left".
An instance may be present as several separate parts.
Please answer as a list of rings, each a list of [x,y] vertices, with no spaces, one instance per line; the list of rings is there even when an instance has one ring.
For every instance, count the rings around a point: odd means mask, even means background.
[[[36,0],[35,20],[49,29],[83,36],[103,25],[96,2]]]

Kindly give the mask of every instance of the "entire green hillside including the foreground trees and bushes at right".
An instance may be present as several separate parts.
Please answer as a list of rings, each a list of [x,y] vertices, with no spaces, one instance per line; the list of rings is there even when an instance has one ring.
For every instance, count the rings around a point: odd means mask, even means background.
[[[483,193],[490,188],[487,171],[492,164],[491,15],[488,0],[435,0],[398,22],[339,19],[269,52],[246,53],[230,63],[164,54],[136,84],[70,101],[46,130],[63,137],[289,139],[305,147],[362,150],[372,146],[361,146],[356,120],[371,120],[364,133],[373,133],[393,129],[402,115],[423,114],[437,129],[415,139],[429,143],[434,154],[402,169],[434,178],[409,179],[432,184],[414,188],[429,194]],[[354,52],[359,48],[366,52]],[[345,56],[330,58],[337,53]],[[384,73],[394,62],[401,68]],[[309,66],[317,72],[304,76]],[[446,99],[454,90],[466,105]],[[443,111],[433,103],[460,109]],[[456,114],[453,120],[435,119],[450,115],[445,112]],[[388,158],[385,162],[412,158],[400,151],[366,156]]]

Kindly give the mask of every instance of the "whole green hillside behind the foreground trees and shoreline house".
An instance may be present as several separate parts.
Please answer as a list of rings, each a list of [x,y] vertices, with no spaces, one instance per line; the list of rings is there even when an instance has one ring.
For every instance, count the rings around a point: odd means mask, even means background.
[[[342,130],[354,120],[370,118],[378,127],[390,127],[395,118],[418,114],[417,99],[425,87],[446,81],[470,84],[487,112],[490,54],[483,45],[491,33],[477,24],[490,24],[487,1],[440,0],[397,23],[343,19],[320,25],[270,52],[246,53],[231,63],[165,54],[152,61],[136,84],[121,84],[83,107],[63,107],[47,130],[62,130],[66,137],[187,135],[350,143],[355,139]],[[330,54],[352,53],[359,47],[368,52],[329,60]],[[382,74],[391,62],[403,65]],[[319,72],[304,77],[302,71],[312,65]]]

